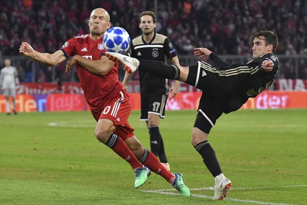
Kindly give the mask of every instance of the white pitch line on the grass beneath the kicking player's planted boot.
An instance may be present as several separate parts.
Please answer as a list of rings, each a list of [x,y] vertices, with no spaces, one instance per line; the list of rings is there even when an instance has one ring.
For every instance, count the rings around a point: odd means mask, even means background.
[[[168,194],[168,195],[180,195],[178,193],[172,193],[172,192],[163,192],[163,191],[157,191],[157,190],[142,190],[142,192],[148,192],[148,193],[157,193],[157,194]],[[199,198],[208,198],[213,199],[212,196],[206,196],[206,195],[199,195],[199,194],[191,194],[193,197],[199,197]],[[224,198],[224,200],[228,201],[236,201],[236,202],[246,202],[246,203],[254,203],[254,204],[263,204],[263,205],[291,205],[289,203],[272,203],[272,202],[265,202],[265,201],[254,201],[254,200],[243,200],[243,199],[235,199],[235,198]]]

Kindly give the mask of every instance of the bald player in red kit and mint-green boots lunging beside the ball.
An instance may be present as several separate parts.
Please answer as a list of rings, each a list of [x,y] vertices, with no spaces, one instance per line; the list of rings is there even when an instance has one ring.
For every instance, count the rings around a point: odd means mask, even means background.
[[[102,8],[94,9],[89,27],[90,34],[69,39],[53,54],[39,53],[26,42],[21,44],[19,53],[48,66],[58,65],[73,56],[67,62],[66,71],[72,71],[76,65],[84,96],[97,120],[95,136],[130,163],[135,171],[135,188],[145,183],[149,168],[165,178],[181,195],[190,196],[182,175],[167,171],[157,157],[141,145],[127,121],[131,111],[129,95],[118,79],[118,64],[104,56],[106,50],[102,40],[104,32],[111,27],[109,14]]]

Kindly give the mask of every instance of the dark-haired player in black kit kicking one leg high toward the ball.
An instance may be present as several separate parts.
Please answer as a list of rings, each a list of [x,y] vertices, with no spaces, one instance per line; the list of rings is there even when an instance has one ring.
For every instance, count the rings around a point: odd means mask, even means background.
[[[215,152],[209,144],[208,134],[223,113],[238,110],[248,98],[266,90],[278,71],[277,35],[272,31],[259,31],[251,35],[253,59],[246,64],[228,64],[207,48],[194,49],[194,55],[210,58],[215,67],[198,61],[190,67],[168,66],[157,61],[138,60],[117,53],[106,53],[113,61],[120,61],[128,72],[139,70],[160,77],[178,79],[203,91],[192,132],[192,145],[215,179],[214,200],[227,195],[231,181],[224,176]]]

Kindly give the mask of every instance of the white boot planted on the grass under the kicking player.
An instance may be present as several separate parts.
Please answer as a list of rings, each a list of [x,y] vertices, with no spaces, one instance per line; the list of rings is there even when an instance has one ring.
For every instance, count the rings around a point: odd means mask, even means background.
[[[231,181],[224,176],[223,173],[215,177],[214,197],[213,200],[223,200],[227,195],[227,191],[231,187]]]

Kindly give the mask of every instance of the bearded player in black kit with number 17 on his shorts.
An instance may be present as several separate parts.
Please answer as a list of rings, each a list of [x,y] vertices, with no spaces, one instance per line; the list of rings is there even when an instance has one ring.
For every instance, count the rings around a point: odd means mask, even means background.
[[[131,57],[139,60],[155,60],[164,64],[179,66],[176,50],[173,48],[167,36],[155,32],[156,15],[152,11],[144,11],[139,15],[139,27],[142,35],[134,38],[131,43]],[[132,77],[132,73],[125,73],[124,87]],[[146,121],[150,135],[150,150],[159,156],[160,162],[170,170],[164,150],[163,139],[159,130],[160,118],[165,118],[165,106],[167,96],[170,93],[172,99],[178,91],[179,81],[175,80],[174,86],[169,88],[168,79],[158,77],[155,74],[139,70],[141,118]]]

